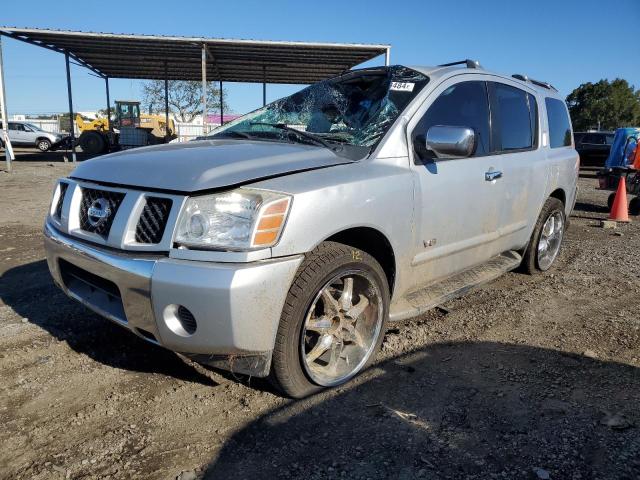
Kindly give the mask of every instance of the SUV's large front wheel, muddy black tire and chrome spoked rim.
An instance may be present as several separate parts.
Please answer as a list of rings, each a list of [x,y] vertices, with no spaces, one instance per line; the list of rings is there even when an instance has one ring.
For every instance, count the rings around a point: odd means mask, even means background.
[[[349,295],[357,296],[358,303],[343,300],[345,295],[337,288],[358,292]],[[333,301],[325,300],[327,294]],[[360,303],[363,297],[366,304]],[[361,305],[366,307],[357,313]],[[355,319],[350,319],[350,313]],[[323,242],[306,256],[287,294],[273,350],[271,382],[293,398],[346,383],[373,361],[388,314],[389,285],[380,264],[361,250]],[[343,335],[350,338],[340,339]],[[330,340],[324,341],[327,337]],[[328,342],[331,346],[323,350]],[[320,351],[324,353],[317,356]]]

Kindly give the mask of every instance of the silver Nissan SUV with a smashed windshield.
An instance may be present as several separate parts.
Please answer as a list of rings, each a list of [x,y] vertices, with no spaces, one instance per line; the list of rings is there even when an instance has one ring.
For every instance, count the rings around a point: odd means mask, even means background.
[[[368,68],[205,140],[82,163],[45,246],[70,297],[302,397],[366,368],[387,321],[548,270],[577,176],[550,85],[472,61]]]

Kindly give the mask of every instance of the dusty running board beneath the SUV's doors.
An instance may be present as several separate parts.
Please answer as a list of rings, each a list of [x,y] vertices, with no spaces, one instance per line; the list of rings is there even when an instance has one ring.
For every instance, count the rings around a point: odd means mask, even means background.
[[[392,307],[389,320],[404,320],[422,315],[433,307],[460,297],[479,285],[495,280],[506,272],[517,268],[521,262],[522,256],[519,253],[509,251],[449,278],[420,287],[418,290],[409,292]]]

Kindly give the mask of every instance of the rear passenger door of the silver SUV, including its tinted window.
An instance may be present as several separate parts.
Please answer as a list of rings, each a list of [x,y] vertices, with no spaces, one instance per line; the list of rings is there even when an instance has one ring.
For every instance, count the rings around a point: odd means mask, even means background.
[[[500,250],[517,250],[529,237],[546,184],[540,155],[538,102],[527,91],[501,81],[487,83],[491,105],[491,144],[502,171]]]

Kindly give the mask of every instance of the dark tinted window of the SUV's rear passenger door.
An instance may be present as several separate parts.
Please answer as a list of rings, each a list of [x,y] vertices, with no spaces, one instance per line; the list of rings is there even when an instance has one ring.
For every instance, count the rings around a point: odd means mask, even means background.
[[[498,152],[536,147],[538,108],[536,99],[510,85],[490,82],[493,149]]]

